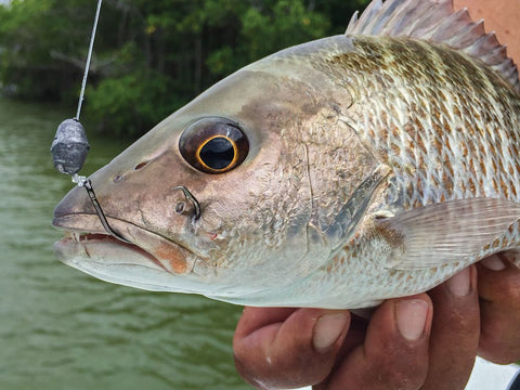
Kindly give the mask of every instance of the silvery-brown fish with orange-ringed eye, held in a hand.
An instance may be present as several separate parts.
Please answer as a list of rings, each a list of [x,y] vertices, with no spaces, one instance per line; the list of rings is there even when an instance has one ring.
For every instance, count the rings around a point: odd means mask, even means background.
[[[63,262],[235,304],[358,309],[520,248],[520,81],[452,0],[373,0],[343,35],[227,76],[56,206]],[[517,261],[518,264],[518,261]]]

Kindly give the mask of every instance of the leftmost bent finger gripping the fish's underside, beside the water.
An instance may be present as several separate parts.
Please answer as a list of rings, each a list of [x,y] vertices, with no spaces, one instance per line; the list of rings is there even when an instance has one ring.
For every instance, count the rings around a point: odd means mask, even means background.
[[[233,339],[237,370],[261,389],[323,381],[349,323],[346,310],[246,308]]]

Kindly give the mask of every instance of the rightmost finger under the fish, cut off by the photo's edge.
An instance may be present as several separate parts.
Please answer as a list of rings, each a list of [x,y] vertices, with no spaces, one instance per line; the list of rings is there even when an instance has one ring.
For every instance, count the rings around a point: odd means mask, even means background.
[[[479,354],[507,364],[520,359],[520,270],[494,255],[479,264],[481,335]]]

